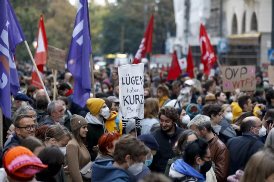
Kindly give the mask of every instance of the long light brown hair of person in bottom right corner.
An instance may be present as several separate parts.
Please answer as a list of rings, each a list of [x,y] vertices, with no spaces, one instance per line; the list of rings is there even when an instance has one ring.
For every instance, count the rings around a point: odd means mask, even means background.
[[[263,147],[253,154],[244,168],[241,182],[272,182],[274,179],[274,149]]]

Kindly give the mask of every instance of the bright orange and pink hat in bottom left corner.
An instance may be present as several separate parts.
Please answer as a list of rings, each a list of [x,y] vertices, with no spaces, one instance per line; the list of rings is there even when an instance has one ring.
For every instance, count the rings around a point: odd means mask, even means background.
[[[47,168],[29,149],[17,146],[9,149],[3,157],[7,175],[19,181],[30,181],[34,175]]]

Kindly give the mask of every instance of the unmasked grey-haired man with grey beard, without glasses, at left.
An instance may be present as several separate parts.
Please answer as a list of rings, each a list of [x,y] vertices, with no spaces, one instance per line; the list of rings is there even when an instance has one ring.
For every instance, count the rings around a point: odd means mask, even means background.
[[[47,106],[48,117],[41,125],[51,126],[54,124],[61,125],[60,123],[64,120],[64,107],[59,101],[51,101]]]

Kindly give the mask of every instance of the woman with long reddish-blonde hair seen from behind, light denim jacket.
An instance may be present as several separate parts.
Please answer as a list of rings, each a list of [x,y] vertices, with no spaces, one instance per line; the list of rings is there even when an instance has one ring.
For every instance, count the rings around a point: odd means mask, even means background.
[[[146,99],[144,105],[144,119],[140,120],[142,131],[141,134],[149,134],[153,124],[159,124],[158,120],[159,102],[155,98]]]

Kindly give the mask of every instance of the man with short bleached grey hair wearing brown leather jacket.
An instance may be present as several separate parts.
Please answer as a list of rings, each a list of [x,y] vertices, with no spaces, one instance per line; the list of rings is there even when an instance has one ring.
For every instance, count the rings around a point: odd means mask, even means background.
[[[212,132],[210,117],[198,114],[188,123],[188,128],[196,131],[199,137],[209,143],[212,161],[216,166],[217,181],[225,181],[228,174],[229,153],[226,145]]]

